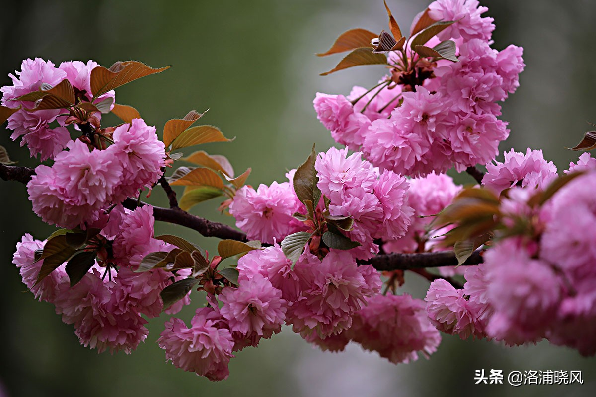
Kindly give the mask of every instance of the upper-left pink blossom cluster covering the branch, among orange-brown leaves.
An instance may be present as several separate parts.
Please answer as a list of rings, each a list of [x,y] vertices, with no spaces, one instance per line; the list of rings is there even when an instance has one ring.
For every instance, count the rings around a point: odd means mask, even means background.
[[[14,130],[12,139],[24,136],[21,146],[29,146],[32,156],[40,154],[41,160],[54,160],[51,167],[39,165],[27,185],[33,211],[46,223],[67,229],[85,228],[98,220],[101,211],[138,195],[142,187],[153,186],[165,165],[164,144],[157,138],[156,128],[140,118],[104,131],[102,137],[111,145],[95,147],[98,145],[84,132],[80,139],[70,139],[66,125],[73,123],[74,116],[66,110],[35,110],[33,102],[18,100],[65,79],[75,88],[75,95],[88,101],[113,99],[113,90],[92,97],[91,71],[97,66],[94,61],[70,61],[56,68],[51,61],[28,59],[17,76],[11,74],[13,86],[0,89],[2,105],[20,107],[8,119],[8,128]],[[101,113],[94,112],[88,120],[76,124],[77,128],[79,124],[98,123],[100,118]],[[54,121],[58,126],[50,128]]]

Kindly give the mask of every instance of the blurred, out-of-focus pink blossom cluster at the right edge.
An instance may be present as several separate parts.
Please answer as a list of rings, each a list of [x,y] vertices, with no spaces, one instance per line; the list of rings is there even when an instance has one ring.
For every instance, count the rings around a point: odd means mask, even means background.
[[[430,285],[427,312],[437,329],[507,345],[548,339],[596,353],[596,162],[583,154],[566,173],[578,170],[585,174],[538,207],[530,199],[556,176],[542,152],[512,151],[489,167],[484,181],[496,192],[507,187],[502,223],[515,232],[496,240],[484,263],[468,267],[463,289],[445,280]]]

